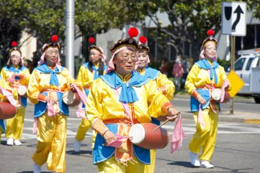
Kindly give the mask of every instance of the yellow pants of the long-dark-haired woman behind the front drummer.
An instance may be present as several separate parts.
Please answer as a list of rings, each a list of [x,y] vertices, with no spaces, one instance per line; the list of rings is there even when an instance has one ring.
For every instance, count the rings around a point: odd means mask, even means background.
[[[85,135],[86,135],[88,129],[90,129],[90,128],[91,128],[90,121],[82,118],[82,120],[79,124],[79,129],[77,129],[77,135],[75,138],[78,141],[83,141],[83,139],[85,139]],[[94,148],[95,139],[96,139],[96,131],[92,131],[92,148]]]

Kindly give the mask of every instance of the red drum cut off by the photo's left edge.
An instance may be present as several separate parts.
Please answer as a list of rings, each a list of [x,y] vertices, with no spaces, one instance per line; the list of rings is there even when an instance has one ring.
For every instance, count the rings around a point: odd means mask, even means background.
[[[16,115],[16,107],[10,103],[0,102],[0,119],[13,118]]]

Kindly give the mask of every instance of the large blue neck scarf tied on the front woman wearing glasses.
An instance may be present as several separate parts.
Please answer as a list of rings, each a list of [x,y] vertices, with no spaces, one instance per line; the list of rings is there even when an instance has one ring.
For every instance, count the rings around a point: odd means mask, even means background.
[[[138,101],[138,96],[136,95],[133,86],[141,87],[150,80],[147,77],[140,75],[138,72],[132,72],[129,83],[124,83],[114,71],[102,76],[101,79],[114,90],[122,87],[119,96],[119,101],[122,103],[133,103],[135,101]]]

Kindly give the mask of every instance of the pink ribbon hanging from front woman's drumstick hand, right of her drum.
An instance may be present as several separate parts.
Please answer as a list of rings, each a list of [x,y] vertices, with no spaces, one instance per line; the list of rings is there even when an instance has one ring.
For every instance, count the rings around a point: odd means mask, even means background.
[[[172,139],[171,139],[171,147],[170,147],[170,153],[174,152],[175,150],[178,150],[181,148],[183,139],[186,137],[183,128],[182,128],[182,120],[181,115],[179,119],[177,120],[175,127],[173,129],[172,133]]]

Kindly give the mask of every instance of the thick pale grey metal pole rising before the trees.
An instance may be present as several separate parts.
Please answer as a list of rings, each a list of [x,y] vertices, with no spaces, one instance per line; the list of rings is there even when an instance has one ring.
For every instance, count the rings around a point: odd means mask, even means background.
[[[74,0],[66,0],[66,68],[70,72],[70,75],[74,77],[74,20],[75,20],[75,6]]]

